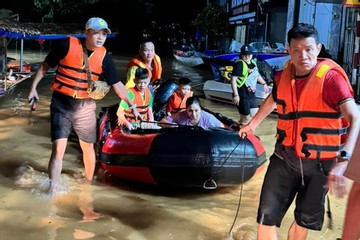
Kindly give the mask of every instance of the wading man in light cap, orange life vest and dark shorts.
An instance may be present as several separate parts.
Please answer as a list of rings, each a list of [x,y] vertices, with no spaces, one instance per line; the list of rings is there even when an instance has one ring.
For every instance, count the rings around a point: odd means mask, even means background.
[[[85,178],[92,180],[95,170],[96,104],[87,93],[87,74],[83,50],[86,48],[91,77],[100,76],[113,86],[116,94],[130,106],[133,105],[125,86],[117,75],[111,55],[103,47],[107,34],[111,33],[105,20],[93,17],[85,25],[85,40],[69,36],[49,52],[37,70],[30,88],[28,99],[40,99],[36,87],[50,67],[56,67],[52,82],[51,141],[52,153],[49,161],[50,189],[55,190],[60,181],[63,157],[72,130],[79,137],[83,152]],[[86,56],[86,55],[85,55]],[[100,80],[99,80],[100,81]],[[132,108],[139,116],[136,108]]]

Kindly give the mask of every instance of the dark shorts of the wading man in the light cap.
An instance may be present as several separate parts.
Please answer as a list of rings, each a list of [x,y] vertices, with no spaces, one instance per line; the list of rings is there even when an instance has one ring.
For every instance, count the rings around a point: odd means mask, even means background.
[[[96,142],[96,104],[92,99],[54,98],[50,105],[51,141],[68,138],[74,130],[80,140]]]

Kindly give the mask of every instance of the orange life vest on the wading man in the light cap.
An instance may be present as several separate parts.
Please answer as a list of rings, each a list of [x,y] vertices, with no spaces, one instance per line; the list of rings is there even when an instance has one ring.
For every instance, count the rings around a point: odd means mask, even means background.
[[[102,62],[106,55],[104,47],[97,48],[89,56],[91,79],[97,81],[102,73]],[[69,51],[60,60],[56,70],[55,80],[51,88],[67,96],[83,99],[89,98],[87,93],[88,81],[83,60],[83,47],[80,39],[69,37]]]

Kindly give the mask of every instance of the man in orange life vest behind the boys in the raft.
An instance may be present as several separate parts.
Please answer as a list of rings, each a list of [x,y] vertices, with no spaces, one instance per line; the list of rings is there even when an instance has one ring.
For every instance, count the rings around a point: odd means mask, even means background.
[[[126,79],[126,87],[134,87],[134,78],[135,71],[137,68],[146,68],[149,72],[150,83],[149,87],[152,92],[153,88],[156,89],[157,80],[161,78],[162,74],[162,66],[160,57],[155,54],[155,46],[154,43],[150,40],[144,40],[140,44],[139,54],[130,60],[130,62],[126,65],[127,70],[127,79]]]

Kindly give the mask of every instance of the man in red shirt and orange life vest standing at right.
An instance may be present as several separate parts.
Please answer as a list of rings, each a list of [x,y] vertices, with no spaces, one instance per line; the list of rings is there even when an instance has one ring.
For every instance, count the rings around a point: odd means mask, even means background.
[[[343,173],[360,129],[346,73],[332,60],[317,58],[317,30],[299,23],[288,32],[288,44],[290,61],[276,75],[272,93],[239,131],[244,138],[277,107],[277,142],[261,190],[258,239],[277,239],[275,226],[280,227],[295,197],[288,239],[306,239],[308,229],[321,230],[329,188],[339,197],[346,193]]]

